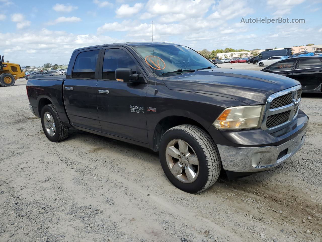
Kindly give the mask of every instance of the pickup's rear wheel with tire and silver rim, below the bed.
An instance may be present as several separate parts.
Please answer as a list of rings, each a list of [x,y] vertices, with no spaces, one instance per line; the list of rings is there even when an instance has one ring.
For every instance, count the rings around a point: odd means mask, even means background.
[[[48,126],[45,127],[45,120],[49,121],[49,119],[45,117],[45,114],[48,114],[48,113],[52,117],[51,120],[53,121],[54,123],[53,126],[55,127],[55,132],[53,135],[50,135],[49,132],[47,131],[46,127]],[[45,133],[46,137],[52,142],[59,142],[64,139],[67,139],[69,135],[69,127],[63,125],[55,107],[52,104],[48,104],[43,107],[41,111],[41,124],[43,126],[43,132]]]

